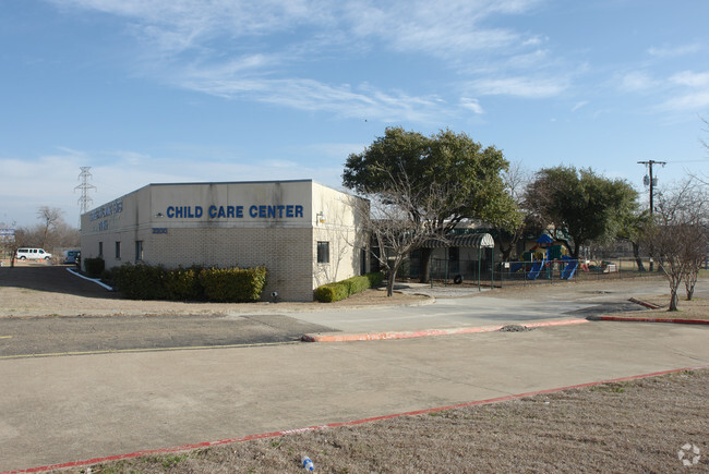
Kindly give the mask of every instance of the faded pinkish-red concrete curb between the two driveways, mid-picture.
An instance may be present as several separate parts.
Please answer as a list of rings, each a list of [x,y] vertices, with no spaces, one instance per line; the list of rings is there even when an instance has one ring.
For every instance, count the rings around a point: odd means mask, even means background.
[[[553,321],[530,323],[524,325],[527,328],[539,328],[546,326],[567,326],[580,325],[588,323],[588,319],[562,319]],[[399,332],[369,332],[363,335],[303,335],[300,340],[303,342],[353,342],[353,341],[383,341],[390,339],[410,339],[410,338],[425,338],[429,336],[453,336],[453,335],[469,335],[477,332],[494,332],[502,329],[506,325],[482,326],[482,327],[468,327],[468,328],[449,328],[449,329],[424,329],[419,331],[399,331]]]

